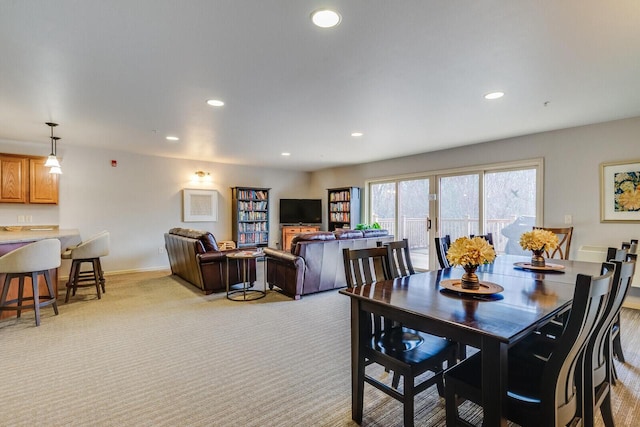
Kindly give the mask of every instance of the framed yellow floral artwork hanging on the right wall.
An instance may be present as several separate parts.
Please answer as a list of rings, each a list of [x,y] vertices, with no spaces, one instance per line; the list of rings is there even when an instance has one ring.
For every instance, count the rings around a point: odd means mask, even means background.
[[[600,164],[600,222],[640,222],[640,160]]]

